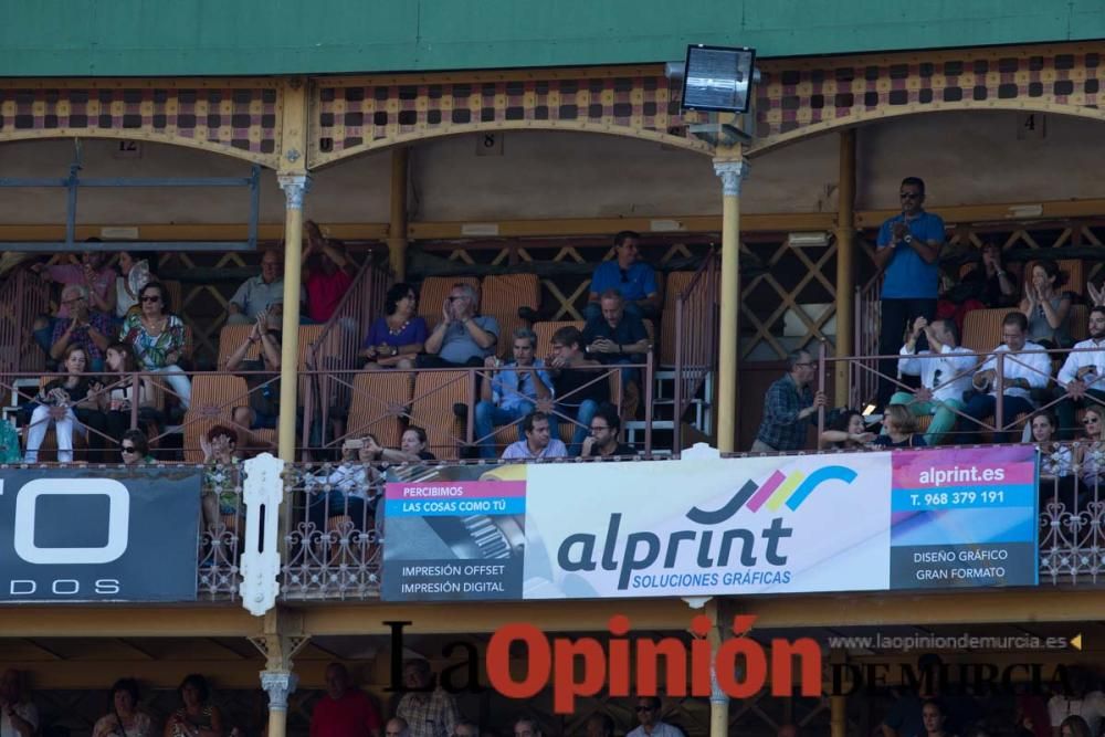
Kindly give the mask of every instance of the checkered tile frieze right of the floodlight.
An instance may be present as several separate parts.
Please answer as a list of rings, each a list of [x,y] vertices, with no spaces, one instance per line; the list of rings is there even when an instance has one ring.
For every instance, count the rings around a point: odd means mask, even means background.
[[[887,115],[938,109],[1052,106],[1096,115],[1099,50],[976,50],[851,57],[818,65],[810,60],[764,60],[757,87],[755,148],[796,138],[807,129]],[[830,62],[834,60],[821,60]],[[1102,117],[1105,117],[1103,115]],[[810,130],[812,131],[812,130]]]

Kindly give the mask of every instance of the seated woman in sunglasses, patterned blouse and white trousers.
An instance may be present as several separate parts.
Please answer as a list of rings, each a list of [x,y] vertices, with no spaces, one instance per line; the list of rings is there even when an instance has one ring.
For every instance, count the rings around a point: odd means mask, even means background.
[[[185,324],[171,313],[168,293],[159,282],[150,282],[139,295],[141,309],[123,320],[119,339],[130,344],[144,371],[164,373],[187,410],[191,403],[192,385],[185,376],[180,361],[185,350]]]

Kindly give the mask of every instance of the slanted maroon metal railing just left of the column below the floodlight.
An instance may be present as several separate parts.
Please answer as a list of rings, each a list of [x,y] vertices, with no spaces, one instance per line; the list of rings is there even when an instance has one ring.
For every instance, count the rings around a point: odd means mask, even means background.
[[[683,449],[683,417],[717,376],[720,259],[713,250],[675,301],[675,391],[672,451]],[[712,397],[706,397],[713,402]],[[651,402],[650,402],[651,403]]]

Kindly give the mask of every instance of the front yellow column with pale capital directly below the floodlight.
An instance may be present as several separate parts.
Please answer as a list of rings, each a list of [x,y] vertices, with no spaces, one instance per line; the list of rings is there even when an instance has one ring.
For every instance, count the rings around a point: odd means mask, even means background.
[[[722,178],[722,319],[718,356],[717,450],[735,450],[737,430],[737,313],[740,305],[740,185],[748,162],[736,150],[714,159]]]

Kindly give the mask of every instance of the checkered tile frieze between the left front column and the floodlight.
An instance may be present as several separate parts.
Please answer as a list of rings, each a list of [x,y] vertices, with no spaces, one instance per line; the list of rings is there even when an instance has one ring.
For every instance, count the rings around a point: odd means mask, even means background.
[[[628,133],[708,150],[686,134],[666,77],[519,80],[318,88],[312,164],[397,140],[487,128]]]

